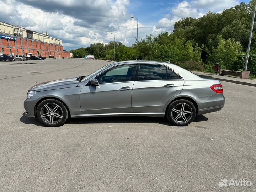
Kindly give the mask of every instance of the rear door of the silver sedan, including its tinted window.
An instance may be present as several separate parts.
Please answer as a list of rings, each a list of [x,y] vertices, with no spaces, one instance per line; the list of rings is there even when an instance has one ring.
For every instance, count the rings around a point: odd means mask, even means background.
[[[163,65],[140,64],[132,91],[133,113],[162,113],[167,101],[179,94],[184,80]]]

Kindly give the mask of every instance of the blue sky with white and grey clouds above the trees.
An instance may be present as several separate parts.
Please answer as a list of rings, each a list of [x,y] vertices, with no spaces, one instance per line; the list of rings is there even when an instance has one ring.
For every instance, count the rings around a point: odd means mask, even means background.
[[[130,46],[176,21],[222,12],[249,0],[0,0],[0,21],[62,39],[64,50],[114,41]]]

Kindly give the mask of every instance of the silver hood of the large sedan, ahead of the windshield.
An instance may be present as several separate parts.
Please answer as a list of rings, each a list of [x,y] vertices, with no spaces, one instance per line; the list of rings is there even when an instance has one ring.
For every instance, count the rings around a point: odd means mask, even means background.
[[[46,90],[52,90],[52,89],[76,87],[80,83],[77,80],[77,78],[78,77],[42,82],[31,87],[29,91],[46,91]]]

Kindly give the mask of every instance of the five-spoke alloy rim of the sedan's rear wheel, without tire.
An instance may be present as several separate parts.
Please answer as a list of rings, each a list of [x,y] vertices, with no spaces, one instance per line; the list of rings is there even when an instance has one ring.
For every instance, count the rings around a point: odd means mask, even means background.
[[[192,108],[187,103],[178,103],[171,111],[171,117],[176,123],[186,123],[192,116]]]

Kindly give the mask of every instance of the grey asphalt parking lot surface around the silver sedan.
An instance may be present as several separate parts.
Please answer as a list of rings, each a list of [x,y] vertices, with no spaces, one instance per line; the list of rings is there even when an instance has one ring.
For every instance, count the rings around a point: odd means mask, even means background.
[[[107,63],[0,62],[0,191],[256,191],[256,87],[222,82],[224,108],[187,127],[108,117],[50,128],[22,116],[34,84]],[[252,186],[219,187],[224,178]]]

